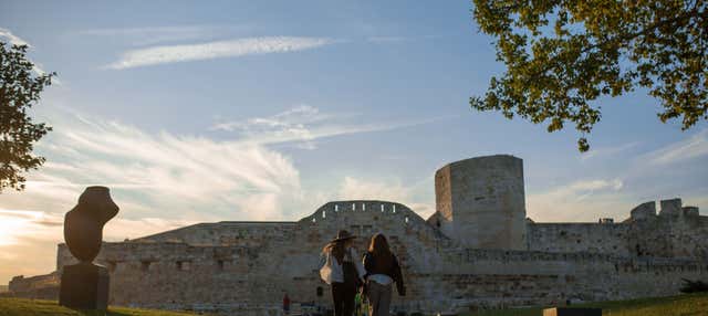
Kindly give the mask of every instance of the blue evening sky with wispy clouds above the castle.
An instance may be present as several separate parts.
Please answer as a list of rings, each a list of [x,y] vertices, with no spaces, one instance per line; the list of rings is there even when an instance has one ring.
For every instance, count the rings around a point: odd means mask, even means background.
[[[504,71],[467,1],[1,1],[0,40],[56,72],[31,112],[54,130],[22,192],[0,193],[0,284],[55,268],[87,186],[122,241],[191,223],[298,220],[331,200],[435,211],[435,170],[523,159],[539,222],[627,218],[681,198],[708,214],[708,124],[662,124],[645,91],[572,128],[470,109]]]

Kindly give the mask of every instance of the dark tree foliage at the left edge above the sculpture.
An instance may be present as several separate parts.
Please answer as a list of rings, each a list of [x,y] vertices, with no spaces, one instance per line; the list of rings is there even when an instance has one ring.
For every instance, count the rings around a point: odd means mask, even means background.
[[[52,130],[44,123],[33,123],[28,110],[56,74],[35,74],[27,49],[0,42],[0,191],[24,189],[23,172],[45,160],[32,154],[33,145]]]

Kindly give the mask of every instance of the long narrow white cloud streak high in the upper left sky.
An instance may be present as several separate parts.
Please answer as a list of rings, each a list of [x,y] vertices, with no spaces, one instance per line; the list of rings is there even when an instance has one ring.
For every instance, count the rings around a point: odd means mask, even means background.
[[[321,48],[335,42],[335,40],[327,38],[266,36],[200,44],[152,46],[127,51],[116,62],[106,65],[105,69],[124,70],[177,62],[296,52]]]

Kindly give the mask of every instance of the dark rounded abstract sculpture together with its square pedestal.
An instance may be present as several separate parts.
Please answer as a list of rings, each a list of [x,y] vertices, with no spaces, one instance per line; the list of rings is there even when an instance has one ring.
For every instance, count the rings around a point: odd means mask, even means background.
[[[106,309],[108,271],[93,263],[101,251],[103,225],[118,213],[106,187],[88,187],[64,217],[64,240],[79,264],[62,271],[59,304],[70,308]]]

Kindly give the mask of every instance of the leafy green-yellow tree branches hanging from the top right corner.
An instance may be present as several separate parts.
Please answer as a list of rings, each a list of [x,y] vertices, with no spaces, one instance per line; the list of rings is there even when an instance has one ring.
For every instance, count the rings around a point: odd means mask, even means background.
[[[518,115],[548,131],[575,124],[585,138],[601,96],[637,87],[660,102],[658,118],[681,129],[708,119],[708,7],[704,0],[473,0],[507,71],[490,80],[478,110]]]

